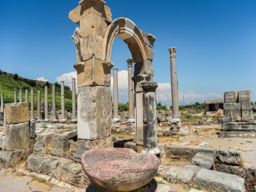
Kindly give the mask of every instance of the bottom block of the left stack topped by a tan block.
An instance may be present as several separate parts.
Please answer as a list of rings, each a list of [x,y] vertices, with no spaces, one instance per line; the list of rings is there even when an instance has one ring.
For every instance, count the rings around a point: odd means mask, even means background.
[[[0,165],[4,168],[8,168],[19,161],[24,161],[28,156],[33,153],[33,148],[16,150],[16,151],[6,151],[0,150]]]

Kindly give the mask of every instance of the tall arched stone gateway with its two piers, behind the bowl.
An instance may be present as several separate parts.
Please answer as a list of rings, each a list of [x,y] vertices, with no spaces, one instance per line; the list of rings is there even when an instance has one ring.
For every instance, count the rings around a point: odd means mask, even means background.
[[[111,145],[112,101],[110,91],[111,49],[115,37],[121,38],[131,52],[134,65],[132,78],[135,89],[134,142],[143,146],[143,109],[141,83],[153,81],[152,61],[156,38],[140,30],[131,20],[112,21],[110,8],[102,0],[82,0],[69,13],[69,19],[80,25],[72,36],[76,47],[78,86],[77,161],[89,148]],[[142,148],[141,148],[142,149]]]

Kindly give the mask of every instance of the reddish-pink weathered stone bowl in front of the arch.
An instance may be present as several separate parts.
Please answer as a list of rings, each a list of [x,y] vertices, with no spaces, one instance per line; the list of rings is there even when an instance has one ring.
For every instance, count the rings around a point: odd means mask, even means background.
[[[159,160],[129,148],[92,149],[82,156],[85,174],[111,192],[127,192],[147,185],[156,175]]]

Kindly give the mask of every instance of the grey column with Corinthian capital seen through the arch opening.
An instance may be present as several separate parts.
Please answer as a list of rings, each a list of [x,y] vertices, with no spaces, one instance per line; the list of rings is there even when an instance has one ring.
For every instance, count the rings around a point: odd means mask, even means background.
[[[135,123],[133,108],[133,81],[132,81],[132,59],[126,59],[128,64],[128,95],[129,95],[129,119],[127,122]]]

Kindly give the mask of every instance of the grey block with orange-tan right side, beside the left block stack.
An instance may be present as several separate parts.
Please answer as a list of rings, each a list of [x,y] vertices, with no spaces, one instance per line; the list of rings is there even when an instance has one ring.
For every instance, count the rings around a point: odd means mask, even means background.
[[[34,154],[43,154],[47,149],[52,149],[52,137],[59,132],[47,132],[36,134]]]

